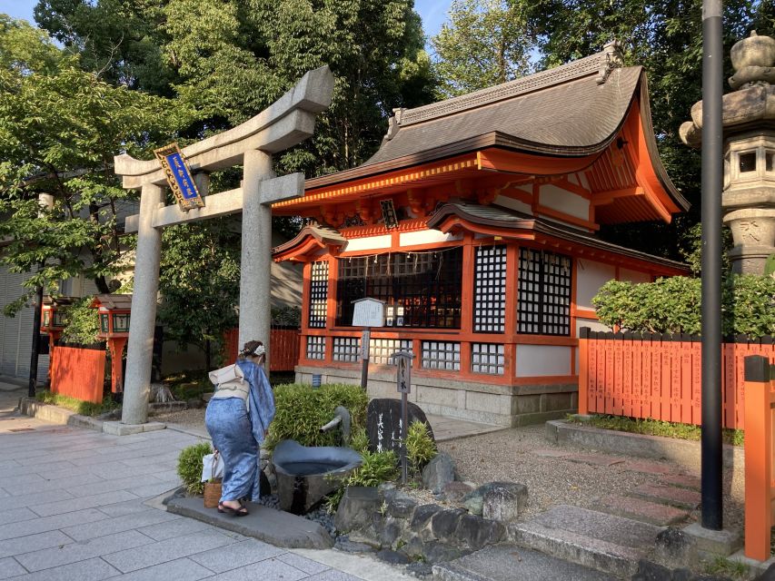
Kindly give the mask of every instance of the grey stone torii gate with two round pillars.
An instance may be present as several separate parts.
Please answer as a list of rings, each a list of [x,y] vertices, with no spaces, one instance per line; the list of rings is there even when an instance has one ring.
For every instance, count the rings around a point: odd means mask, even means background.
[[[154,347],[156,298],[159,288],[162,229],[242,212],[240,278],[240,337],[260,339],[269,345],[270,268],[272,264],[273,202],[299,197],[304,192],[303,173],[275,177],[272,154],[301,143],[314,132],[317,113],[331,103],[333,74],[328,66],[304,74],[293,89],[252,119],[213,137],[185,147],[205,206],[184,212],[164,205],[166,177],[157,160],[140,161],[123,154],[114,158],[116,175],[124,189],[142,190],[140,213],[126,219],[126,231],[137,232],[134,292],[126,357],[123,424],[144,424],[148,419],[151,359]],[[242,187],[206,195],[209,173],[243,165]],[[136,431],[136,430],[134,430]]]

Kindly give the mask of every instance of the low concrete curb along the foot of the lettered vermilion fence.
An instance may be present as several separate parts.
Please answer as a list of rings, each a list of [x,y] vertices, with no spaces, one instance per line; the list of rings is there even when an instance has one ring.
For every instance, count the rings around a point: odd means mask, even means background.
[[[615,452],[622,456],[666,459],[681,465],[691,465],[700,458],[700,442],[618,432],[572,424],[564,419],[546,422],[546,438],[555,444],[570,444],[581,448]],[[741,468],[745,463],[743,448],[724,446],[724,465]]]

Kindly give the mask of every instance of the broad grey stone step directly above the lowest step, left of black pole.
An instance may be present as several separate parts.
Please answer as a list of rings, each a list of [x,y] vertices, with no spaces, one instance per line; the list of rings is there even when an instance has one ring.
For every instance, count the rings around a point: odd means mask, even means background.
[[[629,578],[661,530],[630,518],[559,505],[511,525],[509,535],[522,547]]]

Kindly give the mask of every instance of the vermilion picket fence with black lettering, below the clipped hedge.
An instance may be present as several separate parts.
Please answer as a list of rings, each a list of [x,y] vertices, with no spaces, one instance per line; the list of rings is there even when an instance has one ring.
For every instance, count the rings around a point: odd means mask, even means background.
[[[737,338],[721,348],[722,419],[744,428],[744,359],[775,357],[771,337]],[[701,424],[700,338],[599,333],[579,338],[579,413]]]

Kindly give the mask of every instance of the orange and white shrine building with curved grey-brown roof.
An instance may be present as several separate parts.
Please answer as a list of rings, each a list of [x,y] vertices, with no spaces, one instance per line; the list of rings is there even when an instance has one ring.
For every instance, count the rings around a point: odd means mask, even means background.
[[[397,397],[392,353],[412,350],[410,400],[502,426],[577,409],[578,336],[611,279],[686,274],[602,241],[601,224],[687,210],[661,164],[646,75],[616,44],[563,66],[396,110],[362,165],[308,180],[275,215],[310,224],[273,249],[303,263],[297,381],[358,383],[353,300],[385,303],[369,394]]]

